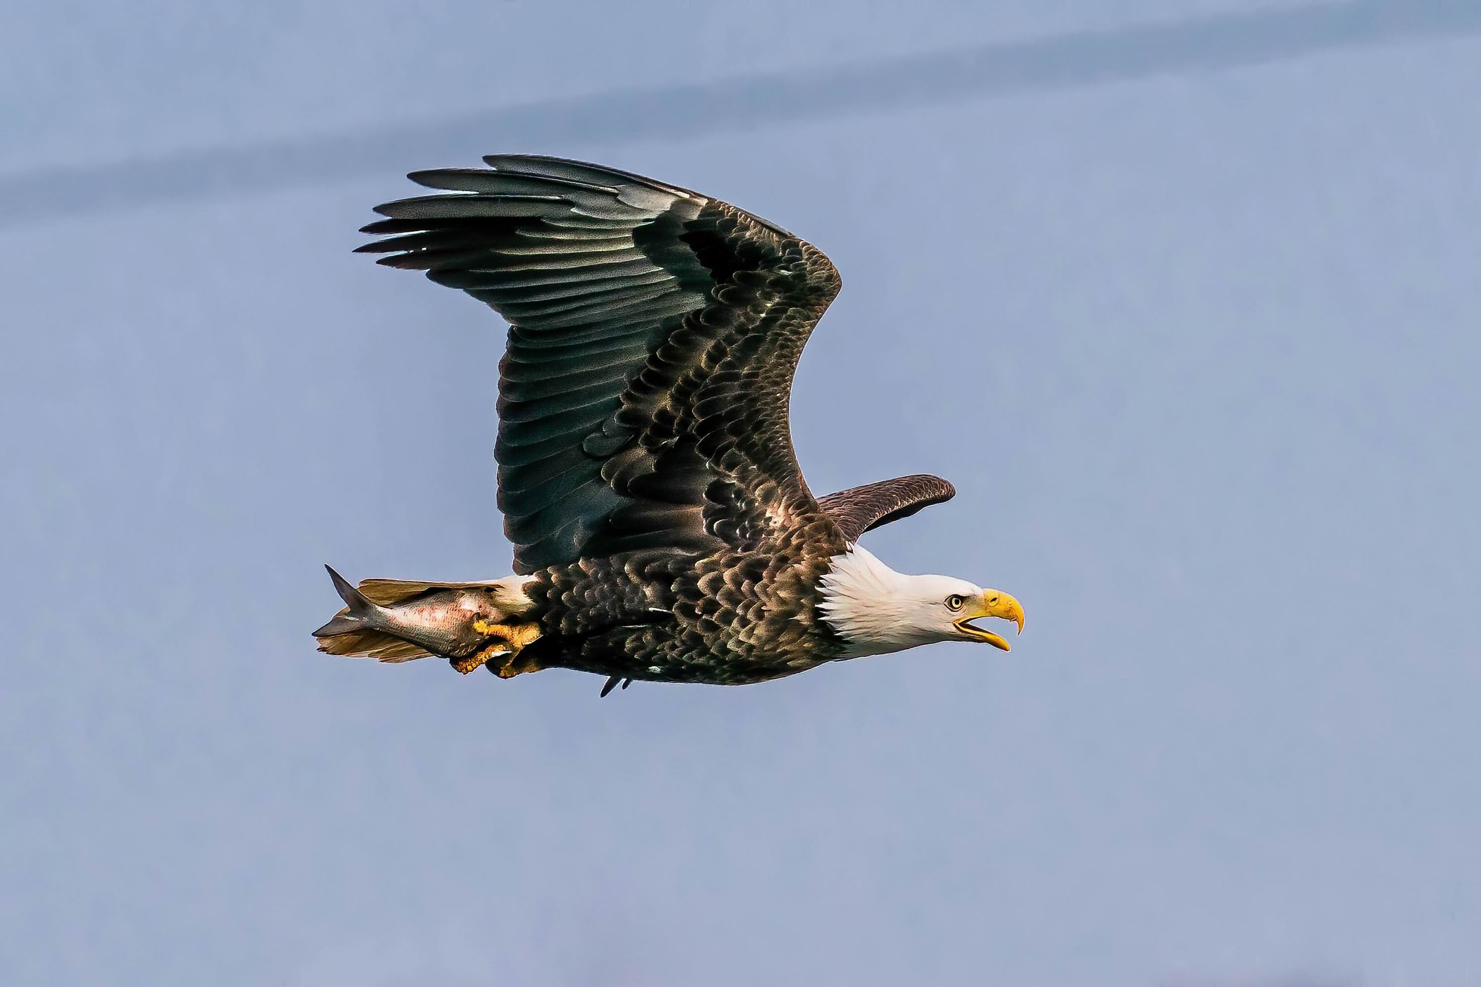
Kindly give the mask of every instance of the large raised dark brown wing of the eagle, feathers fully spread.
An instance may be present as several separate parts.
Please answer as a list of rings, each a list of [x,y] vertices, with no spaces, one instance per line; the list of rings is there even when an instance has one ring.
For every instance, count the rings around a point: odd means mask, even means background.
[[[515,572],[760,544],[819,516],[788,396],[838,293],[819,250],[723,202],[597,164],[416,172],[360,247],[509,323],[499,508]]]

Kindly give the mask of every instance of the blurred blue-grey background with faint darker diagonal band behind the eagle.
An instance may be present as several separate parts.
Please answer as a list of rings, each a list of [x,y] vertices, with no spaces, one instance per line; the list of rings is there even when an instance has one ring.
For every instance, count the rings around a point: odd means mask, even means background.
[[[1481,7],[22,0],[6,984],[1481,983]],[[351,255],[582,157],[838,265],[792,403],[1017,596],[740,689],[314,652],[508,572],[504,328]]]

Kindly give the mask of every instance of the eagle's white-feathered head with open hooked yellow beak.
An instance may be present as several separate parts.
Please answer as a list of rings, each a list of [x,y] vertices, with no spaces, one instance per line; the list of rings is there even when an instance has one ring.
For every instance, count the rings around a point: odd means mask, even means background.
[[[818,609],[844,639],[849,658],[942,640],[976,640],[1007,651],[1007,640],[972,624],[986,617],[1014,621],[1023,630],[1023,608],[1007,593],[952,576],[905,575],[863,545],[834,556],[820,588]]]

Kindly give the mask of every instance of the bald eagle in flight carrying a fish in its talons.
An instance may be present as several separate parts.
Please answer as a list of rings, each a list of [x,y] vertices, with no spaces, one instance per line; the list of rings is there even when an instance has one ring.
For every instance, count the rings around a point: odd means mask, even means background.
[[[499,154],[413,172],[435,194],[363,228],[360,252],[425,271],[508,322],[498,502],[514,575],[336,576],[320,649],[441,655],[502,677],[575,668],[743,685],[933,642],[1009,649],[1007,593],[896,572],[859,536],[951,483],[906,476],[815,498],[788,399],[838,293],[810,243],[720,200],[612,167]],[[330,571],[333,572],[333,571]]]

